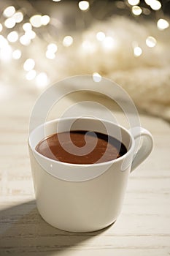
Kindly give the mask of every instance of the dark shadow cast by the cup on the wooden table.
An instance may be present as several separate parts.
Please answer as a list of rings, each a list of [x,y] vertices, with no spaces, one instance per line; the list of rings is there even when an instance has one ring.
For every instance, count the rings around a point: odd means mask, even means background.
[[[0,211],[0,256],[63,255],[104,230],[92,233],[58,230],[42,219],[35,200],[31,200]]]

